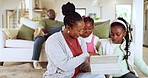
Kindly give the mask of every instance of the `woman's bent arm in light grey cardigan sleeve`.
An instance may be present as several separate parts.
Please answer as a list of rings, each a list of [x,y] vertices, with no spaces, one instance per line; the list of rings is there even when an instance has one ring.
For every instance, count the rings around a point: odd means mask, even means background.
[[[49,37],[46,41],[46,53],[52,63],[63,71],[71,71],[82,64],[88,57],[87,53],[82,53],[77,57],[71,57],[67,52],[67,46],[64,45],[63,39]]]

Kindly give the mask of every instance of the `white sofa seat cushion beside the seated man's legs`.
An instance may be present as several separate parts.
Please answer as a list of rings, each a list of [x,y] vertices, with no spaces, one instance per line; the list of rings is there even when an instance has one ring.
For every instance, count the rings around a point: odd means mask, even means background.
[[[21,39],[8,39],[6,40],[6,48],[33,48],[34,41],[21,40]],[[45,48],[45,43],[42,48]]]

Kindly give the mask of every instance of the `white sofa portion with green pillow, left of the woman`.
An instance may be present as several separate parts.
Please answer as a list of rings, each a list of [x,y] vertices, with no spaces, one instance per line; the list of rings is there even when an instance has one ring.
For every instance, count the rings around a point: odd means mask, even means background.
[[[29,40],[28,36],[22,34],[32,30],[32,38],[34,29],[38,26],[38,22],[21,18],[21,24],[18,28],[0,29],[0,62],[32,62],[34,41]],[[22,26],[28,27],[30,30],[23,29]],[[21,36],[22,35],[22,38]],[[26,36],[26,39],[23,37]],[[40,62],[47,62],[44,45],[41,50]]]

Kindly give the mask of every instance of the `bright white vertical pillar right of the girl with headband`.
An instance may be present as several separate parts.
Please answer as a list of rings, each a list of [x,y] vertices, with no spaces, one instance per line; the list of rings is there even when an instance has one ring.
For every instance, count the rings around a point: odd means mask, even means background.
[[[135,50],[139,52],[142,57],[143,53],[143,0],[133,0],[133,20],[132,24],[135,26],[134,42]]]

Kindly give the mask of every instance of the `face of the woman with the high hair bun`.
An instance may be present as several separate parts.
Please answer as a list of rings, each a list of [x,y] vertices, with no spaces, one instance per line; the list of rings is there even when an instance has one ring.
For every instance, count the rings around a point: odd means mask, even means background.
[[[80,34],[83,33],[84,21],[77,22],[74,26],[69,29],[69,36],[73,39],[77,39]]]

